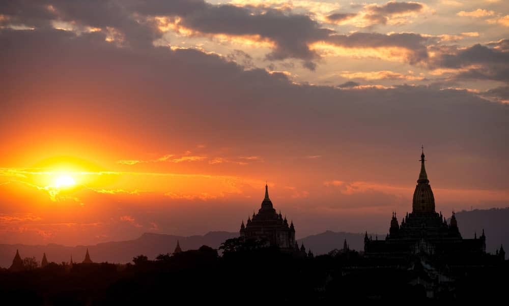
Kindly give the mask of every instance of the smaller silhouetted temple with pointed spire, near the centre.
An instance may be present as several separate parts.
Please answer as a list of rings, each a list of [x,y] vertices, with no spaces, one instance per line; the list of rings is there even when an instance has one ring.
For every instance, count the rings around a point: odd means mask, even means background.
[[[253,212],[252,218],[247,218],[245,225],[242,221],[240,236],[248,239],[265,240],[270,245],[277,246],[282,250],[293,252],[296,248],[298,249],[293,222],[288,225],[286,217],[283,218],[281,212],[276,212],[269,198],[267,185],[265,185],[265,198],[262,201],[262,207],[256,215]]]

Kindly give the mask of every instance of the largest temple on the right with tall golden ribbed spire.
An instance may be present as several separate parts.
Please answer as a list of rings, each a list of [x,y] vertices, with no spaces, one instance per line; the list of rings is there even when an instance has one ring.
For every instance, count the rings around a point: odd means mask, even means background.
[[[401,225],[396,212],[392,212],[389,233],[385,239],[373,240],[364,236],[366,256],[405,257],[411,254],[430,255],[484,254],[486,236],[463,239],[458,229],[455,213],[449,224],[442,212],[435,211],[435,197],[425,168],[425,155],[420,156],[420,173],[413,194],[412,212],[406,213]]]

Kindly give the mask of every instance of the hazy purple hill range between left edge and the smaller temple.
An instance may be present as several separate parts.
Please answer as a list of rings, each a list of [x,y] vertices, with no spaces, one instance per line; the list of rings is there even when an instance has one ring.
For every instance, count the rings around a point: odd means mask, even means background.
[[[9,267],[12,259],[19,249],[21,258],[35,256],[41,261],[42,254],[46,253],[48,261],[61,263],[69,262],[71,255],[75,262],[81,262],[87,248],[90,257],[95,262],[119,262],[126,263],[132,258],[143,254],[154,259],[159,254],[172,253],[180,242],[182,250],[198,249],[204,244],[212,248],[218,248],[220,244],[229,238],[238,236],[238,233],[208,232],[207,234],[183,237],[174,235],[145,233],[137,239],[115,242],[104,242],[94,246],[66,247],[59,244],[47,244],[46,246],[26,246],[24,244],[0,244],[0,267]]]

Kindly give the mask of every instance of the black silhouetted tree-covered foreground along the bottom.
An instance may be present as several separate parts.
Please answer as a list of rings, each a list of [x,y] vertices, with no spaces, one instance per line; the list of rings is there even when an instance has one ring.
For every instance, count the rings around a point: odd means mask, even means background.
[[[355,251],[317,257],[231,241],[222,256],[202,247],[134,264],[50,263],[0,271],[1,304],[112,305],[203,302],[507,300],[507,261],[483,258],[365,258]],[[223,246],[224,247],[224,246]]]

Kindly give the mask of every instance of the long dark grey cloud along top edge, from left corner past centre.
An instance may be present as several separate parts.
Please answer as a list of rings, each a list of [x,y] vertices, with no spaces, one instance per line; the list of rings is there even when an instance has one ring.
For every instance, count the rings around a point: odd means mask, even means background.
[[[149,46],[161,37],[153,21],[147,16],[180,17],[181,26],[202,34],[225,34],[231,36],[258,35],[261,39],[272,41],[275,46],[267,54],[269,60],[298,58],[304,66],[313,68],[312,61],[318,55],[307,46],[326,38],[332,30],[322,28],[306,15],[288,14],[275,9],[263,12],[252,7],[233,5],[212,5],[203,0],[178,1],[62,1],[43,0],[22,2],[14,8],[4,5],[0,13],[14,20],[30,21],[37,25],[41,20],[59,19],[94,27],[114,27],[133,45]],[[51,6],[52,12],[48,13]],[[25,10],[27,13],[24,13]]]

